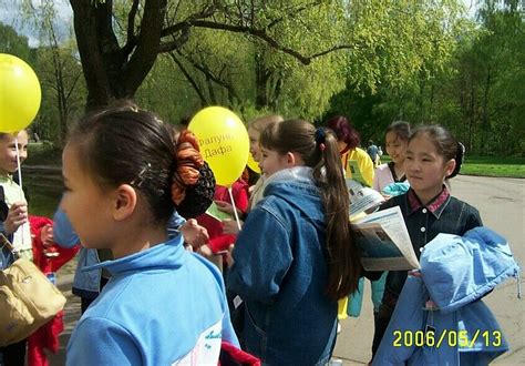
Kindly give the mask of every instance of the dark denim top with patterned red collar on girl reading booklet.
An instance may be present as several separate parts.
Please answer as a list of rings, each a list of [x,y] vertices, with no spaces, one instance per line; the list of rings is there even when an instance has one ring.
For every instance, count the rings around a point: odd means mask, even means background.
[[[406,230],[414,248],[415,255],[420,257],[423,246],[432,241],[437,234],[463,235],[469,230],[482,225],[480,213],[467,203],[451,196],[446,189],[426,205],[419,202],[412,189],[403,195],[387,201],[381,210],[400,206]],[[406,279],[406,271],[390,271],[387,276],[385,296],[383,304],[399,297]],[[393,309],[393,308],[392,308]]]

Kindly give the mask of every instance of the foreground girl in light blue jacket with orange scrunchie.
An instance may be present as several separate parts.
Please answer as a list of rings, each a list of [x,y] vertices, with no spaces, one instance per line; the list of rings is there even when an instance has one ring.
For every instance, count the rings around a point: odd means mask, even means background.
[[[83,246],[114,260],[82,270],[111,279],[76,324],[68,365],[217,364],[222,339],[237,345],[220,273],[182,235],[168,238],[175,207],[206,210],[195,200],[207,173],[196,139],[174,135],[123,104],[85,116],[70,136],[61,207]]]

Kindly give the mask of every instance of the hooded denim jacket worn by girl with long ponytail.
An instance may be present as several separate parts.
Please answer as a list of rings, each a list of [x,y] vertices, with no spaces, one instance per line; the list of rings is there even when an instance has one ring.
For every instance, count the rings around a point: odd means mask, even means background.
[[[268,365],[329,359],[337,302],[325,295],[325,209],[311,169],[282,170],[237,237],[227,286],[246,304],[247,352]]]

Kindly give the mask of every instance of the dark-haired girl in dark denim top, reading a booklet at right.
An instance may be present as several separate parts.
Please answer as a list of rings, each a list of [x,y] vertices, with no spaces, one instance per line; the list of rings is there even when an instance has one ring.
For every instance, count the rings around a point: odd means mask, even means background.
[[[406,228],[420,256],[424,245],[437,234],[463,236],[482,226],[473,206],[451,196],[445,181],[460,172],[464,148],[441,125],[420,125],[411,134],[404,160],[410,190],[387,201],[381,209],[400,206]],[[379,309],[372,353],[379,347],[408,272],[390,271]]]

